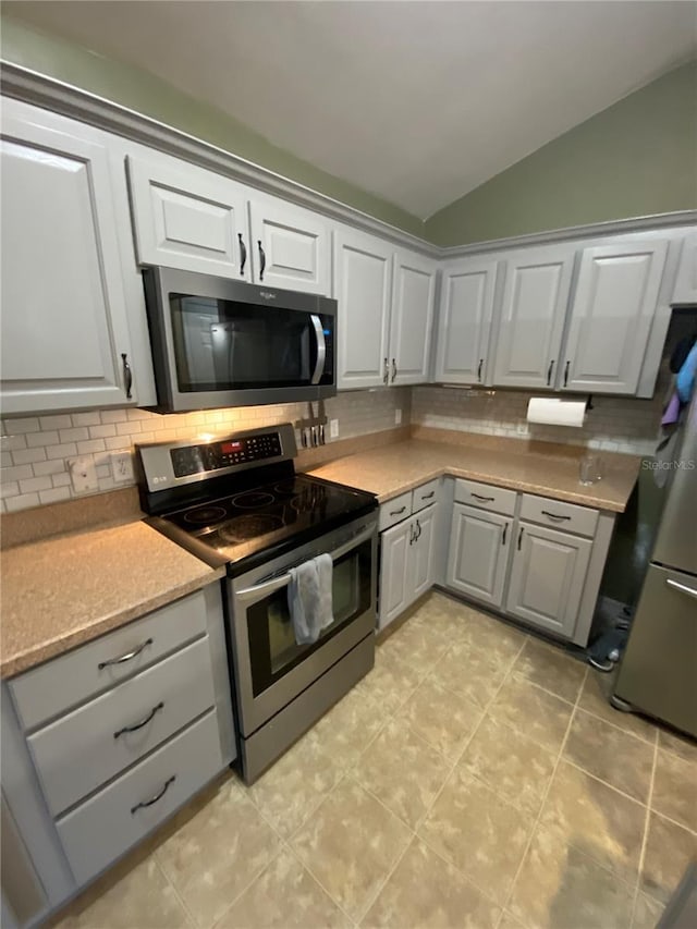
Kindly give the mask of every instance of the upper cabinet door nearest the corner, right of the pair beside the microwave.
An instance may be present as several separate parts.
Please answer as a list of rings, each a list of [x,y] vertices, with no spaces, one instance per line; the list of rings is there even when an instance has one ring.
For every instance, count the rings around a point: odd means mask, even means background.
[[[390,383],[425,383],[433,326],[436,262],[411,252],[394,256]]]

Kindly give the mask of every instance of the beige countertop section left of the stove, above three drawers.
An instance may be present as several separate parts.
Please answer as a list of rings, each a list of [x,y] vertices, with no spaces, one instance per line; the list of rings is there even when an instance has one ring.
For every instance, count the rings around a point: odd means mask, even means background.
[[[142,522],[5,549],[0,673],[26,671],[223,573]]]

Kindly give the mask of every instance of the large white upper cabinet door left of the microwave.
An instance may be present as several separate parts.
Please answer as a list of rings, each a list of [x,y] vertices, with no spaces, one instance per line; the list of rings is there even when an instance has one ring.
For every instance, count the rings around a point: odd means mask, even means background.
[[[135,404],[103,136],[5,100],[1,150],[3,412]]]

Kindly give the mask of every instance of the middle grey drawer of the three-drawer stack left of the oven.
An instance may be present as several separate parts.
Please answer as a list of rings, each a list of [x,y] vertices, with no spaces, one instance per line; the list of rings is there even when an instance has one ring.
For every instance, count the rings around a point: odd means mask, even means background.
[[[53,816],[215,702],[205,637],[35,732],[27,741]]]

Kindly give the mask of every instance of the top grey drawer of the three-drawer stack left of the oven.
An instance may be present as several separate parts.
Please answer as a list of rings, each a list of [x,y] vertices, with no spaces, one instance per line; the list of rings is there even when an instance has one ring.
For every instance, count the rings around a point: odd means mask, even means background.
[[[206,631],[197,590],[9,682],[25,730],[119,684]]]

